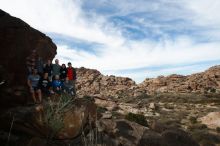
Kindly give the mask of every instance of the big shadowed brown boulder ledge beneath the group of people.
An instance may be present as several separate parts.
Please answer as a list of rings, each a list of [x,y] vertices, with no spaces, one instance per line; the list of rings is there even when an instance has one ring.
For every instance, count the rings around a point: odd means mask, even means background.
[[[10,134],[24,142],[28,141],[28,137],[38,137],[41,141],[74,141],[83,132],[86,133],[87,124],[95,125],[96,115],[96,106],[88,99],[76,99],[65,103],[49,102],[45,105],[9,110],[0,117],[0,127],[6,133],[11,128]],[[17,142],[11,140],[11,143]]]

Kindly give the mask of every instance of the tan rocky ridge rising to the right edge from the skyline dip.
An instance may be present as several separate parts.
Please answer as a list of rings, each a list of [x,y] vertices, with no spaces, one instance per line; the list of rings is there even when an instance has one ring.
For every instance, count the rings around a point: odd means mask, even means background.
[[[146,79],[138,86],[149,93],[215,93],[220,91],[220,66],[214,66],[205,72],[189,76],[170,75]]]

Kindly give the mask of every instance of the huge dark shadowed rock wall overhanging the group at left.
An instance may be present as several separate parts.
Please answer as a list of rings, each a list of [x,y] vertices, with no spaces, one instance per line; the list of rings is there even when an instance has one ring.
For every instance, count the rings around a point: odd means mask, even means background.
[[[33,51],[35,57],[39,56],[46,61],[53,59],[56,48],[45,34],[0,10],[0,82],[5,81],[4,86],[0,87],[0,103],[11,103],[24,98],[27,86],[27,60]],[[6,94],[7,99],[3,99]],[[12,97],[10,101],[9,96]]]

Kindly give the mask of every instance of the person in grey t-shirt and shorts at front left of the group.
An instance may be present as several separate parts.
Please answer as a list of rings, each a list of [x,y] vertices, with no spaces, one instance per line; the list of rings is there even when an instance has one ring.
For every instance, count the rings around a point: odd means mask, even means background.
[[[28,76],[28,87],[30,88],[30,92],[32,94],[32,98],[34,100],[34,103],[41,103],[42,102],[42,95],[41,90],[39,88],[39,80],[40,76],[37,74],[37,69],[33,69],[32,74]],[[38,94],[38,101],[36,99],[35,93]]]

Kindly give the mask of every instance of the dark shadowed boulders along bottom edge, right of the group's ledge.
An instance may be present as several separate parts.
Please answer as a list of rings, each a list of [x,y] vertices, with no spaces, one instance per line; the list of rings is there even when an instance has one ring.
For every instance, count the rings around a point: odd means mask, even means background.
[[[127,120],[100,120],[99,130],[108,136],[111,146],[199,146],[190,135],[180,129],[156,132]]]

